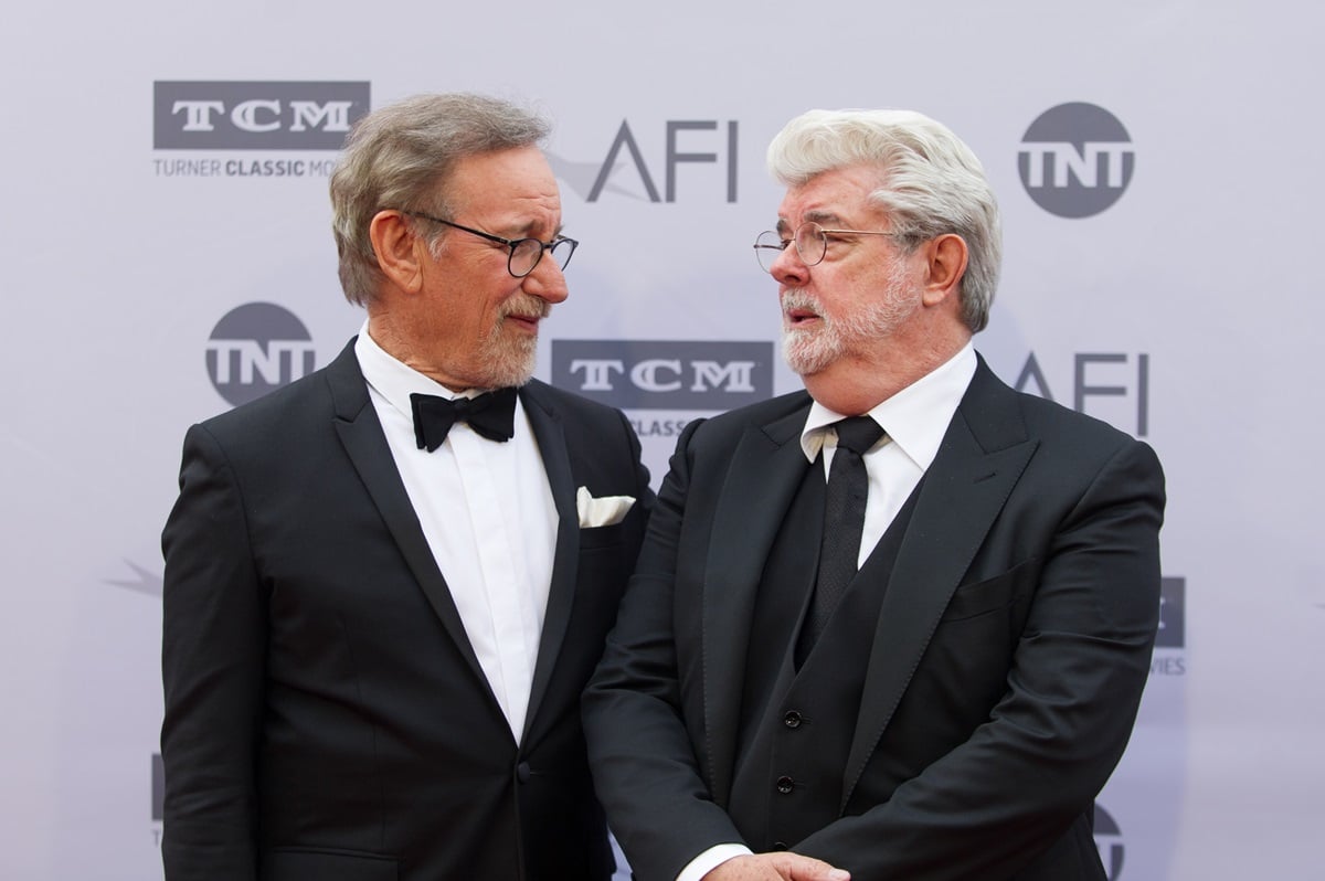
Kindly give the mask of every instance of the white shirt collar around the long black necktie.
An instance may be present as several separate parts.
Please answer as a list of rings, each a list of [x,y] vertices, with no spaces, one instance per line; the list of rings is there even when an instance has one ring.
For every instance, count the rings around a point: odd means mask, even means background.
[[[967,342],[959,352],[925,374],[892,397],[874,405],[869,415],[889,440],[906,453],[921,470],[929,469],[943,441],[957,405],[975,376],[975,347]],[[845,419],[819,401],[810,405],[800,432],[800,449],[811,462],[823,449],[828,425]]]

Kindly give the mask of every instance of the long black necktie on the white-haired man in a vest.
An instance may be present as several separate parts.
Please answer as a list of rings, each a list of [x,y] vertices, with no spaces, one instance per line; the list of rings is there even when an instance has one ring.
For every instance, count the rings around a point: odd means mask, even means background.
[[[837,450],[828,469],[824,497],[824,539],[819,547],[819,578],[810,603],[810,615],[800,629],[798,661],[810,654],[832,616],[843,591],[856,576],[860,533],[865,527],[865,499],[869,478],[861,454],[878,442],[884,429],[869,416],[853,416],[836,423]]]

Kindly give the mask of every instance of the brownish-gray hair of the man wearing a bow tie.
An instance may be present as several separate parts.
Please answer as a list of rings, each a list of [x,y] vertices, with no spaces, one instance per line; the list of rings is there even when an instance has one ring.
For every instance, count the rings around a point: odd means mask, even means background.
[[[527,110],[468,93],[415,95],[359,119],[331,175],[331,232],[346,299],[367,305],[382,282],[368,237],[379,211],[450,220],[458,207],[445,184],[460,159],[539,146],[549,131],[549,123]],[[445,228],[439,228],[428,242],[435,252],[443,234]]]

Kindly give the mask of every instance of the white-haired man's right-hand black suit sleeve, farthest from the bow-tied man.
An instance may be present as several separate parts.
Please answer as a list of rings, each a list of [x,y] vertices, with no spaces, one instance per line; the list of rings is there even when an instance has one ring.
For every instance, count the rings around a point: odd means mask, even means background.
[[[1061,844],[1136,719],[1158,625],[1162,510],[1159,462],[1128,441],[1071,506],[1045,558],[1027,563],[1037,570],[1034,599],[987,722],[886,802],[795,849],[855,878],[957,881],[1011,877]],[[1055,877],[1084,877],[1072,864]]]

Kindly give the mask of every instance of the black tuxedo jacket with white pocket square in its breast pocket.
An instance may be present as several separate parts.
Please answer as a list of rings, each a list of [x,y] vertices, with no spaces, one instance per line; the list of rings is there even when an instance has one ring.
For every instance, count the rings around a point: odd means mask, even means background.
[[[559,526],[518,747],[352,342],[189,429],[162,538],[170,881],[611,874],[579,697],[653,497],[620,412],[538,382],[521,400]],[[580,529],[578,486],[639,501]]]

